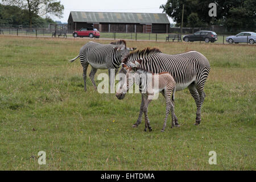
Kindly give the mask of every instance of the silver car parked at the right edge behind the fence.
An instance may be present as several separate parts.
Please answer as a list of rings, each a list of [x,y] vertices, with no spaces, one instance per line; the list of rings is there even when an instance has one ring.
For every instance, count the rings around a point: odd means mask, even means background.
[[[233,42],[238,44],[240,42],[249,42],[254,44],[256,42],[256,33],[255,32],[241,32],[237,35],[228,36],[226,42],[232,44]]]

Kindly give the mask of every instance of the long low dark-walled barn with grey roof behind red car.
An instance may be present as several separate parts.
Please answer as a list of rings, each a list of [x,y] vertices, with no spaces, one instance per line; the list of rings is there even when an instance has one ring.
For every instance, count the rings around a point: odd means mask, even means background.
[[[71,11],[68,30],[94,27],[100,32],[167,33],[170,22],[163,13],[105,13]]]

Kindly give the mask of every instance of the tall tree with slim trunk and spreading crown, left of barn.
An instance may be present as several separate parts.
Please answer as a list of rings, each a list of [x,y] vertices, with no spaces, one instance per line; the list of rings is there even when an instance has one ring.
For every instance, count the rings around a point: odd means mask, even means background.
[[[47,14],[55,15],[62,18],[64,6],[60,1],[56,0],[2,0],[7,5],[18,6],[23,10],[27,10],[30,27],[32,27],[32,19],[36,16]]]

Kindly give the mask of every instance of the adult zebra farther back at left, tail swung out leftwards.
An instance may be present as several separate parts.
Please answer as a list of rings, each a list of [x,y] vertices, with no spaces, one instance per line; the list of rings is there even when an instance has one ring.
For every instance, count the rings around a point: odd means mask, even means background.
[[[136,48],[126,47],[125,40],[118,40],[110,44],[99,44],[94,42],[88,42],[81,47],[80,53],[74,59],[70,60],[72,63],[80,57],[80,63],[82,65],[83,78],[84,78],[84,90],[86,91],[86,71],[88,65],[92,66],[90,72],[90,80],[94,88],[97,90],[97,86],[94,81],[94,76],[97,69],[108,69],[109,71],[109,84],[114,81],[114,78],[110,78],[111,69],[115,69],[115,74],[121,65],[122,59],[127,56],[130,51],[134,51]]]

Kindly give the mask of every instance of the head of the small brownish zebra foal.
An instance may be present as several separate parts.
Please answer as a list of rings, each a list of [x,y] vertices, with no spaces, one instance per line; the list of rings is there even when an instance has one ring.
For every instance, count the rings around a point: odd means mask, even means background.
[[[137,72],[138,61],[134,63],[130,63],[129,66],[122,63],[122,69],[125,70],[126,74],[123,74],[122,80],[123,82],[119,82],[118,90],[115,96],[122,100],[125,98],[125,94],[128,92],[129,88],[134,84],[134,72]]]

